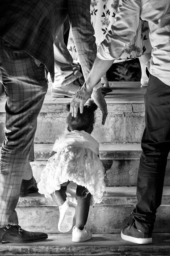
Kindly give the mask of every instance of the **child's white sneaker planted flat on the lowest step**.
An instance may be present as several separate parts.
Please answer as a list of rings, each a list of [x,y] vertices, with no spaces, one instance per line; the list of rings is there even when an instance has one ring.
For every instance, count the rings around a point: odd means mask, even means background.
[[[84,227],[83,230],[80,230],[78,227],[74,226],[72,233],[73,242],[84,242],[92,238],[91,232],[87,231]]]

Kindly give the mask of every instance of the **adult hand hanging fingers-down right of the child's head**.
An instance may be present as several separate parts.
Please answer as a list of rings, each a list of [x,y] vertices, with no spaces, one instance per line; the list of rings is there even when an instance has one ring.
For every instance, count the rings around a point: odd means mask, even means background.
[[[104,125],[108,115],[108,109],[105,99],[102,96],[101,88],[93,90],[91,99],[93,99],[94,103],[96,103],[97,107],[102,111],[102,125]]]

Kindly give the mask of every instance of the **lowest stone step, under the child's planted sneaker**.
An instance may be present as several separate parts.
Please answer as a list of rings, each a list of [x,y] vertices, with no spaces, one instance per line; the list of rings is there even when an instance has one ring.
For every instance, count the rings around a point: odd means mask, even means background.
[[[73,243],[71,234],[48,235],[45,241],[29,244],[1,244],[1,255],[16,256],[132,256],[170,255],[170,234],[153,234],[153,243],[138,245],[120,238],[120,234],[93,234],[89,241]]]

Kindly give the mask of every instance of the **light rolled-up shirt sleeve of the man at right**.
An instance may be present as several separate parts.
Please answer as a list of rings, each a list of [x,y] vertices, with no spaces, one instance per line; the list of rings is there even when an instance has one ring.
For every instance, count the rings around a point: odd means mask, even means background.
[[[141,0],[120,0],[115,23],[99,45],[97,57],[102,60],[119,58],[136,35],[139,26]]]

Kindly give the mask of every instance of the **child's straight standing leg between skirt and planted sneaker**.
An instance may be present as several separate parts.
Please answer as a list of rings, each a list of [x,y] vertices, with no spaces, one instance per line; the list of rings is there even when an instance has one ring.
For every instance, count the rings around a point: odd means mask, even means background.
[[[88,212],[90,207],[91,194],[85,187],[77,185],[77,216],[76,216],[76,227],[83,230],[88,220]]]

